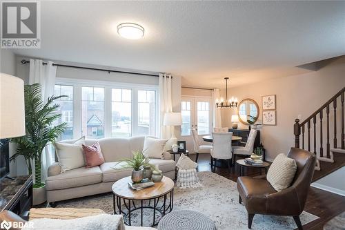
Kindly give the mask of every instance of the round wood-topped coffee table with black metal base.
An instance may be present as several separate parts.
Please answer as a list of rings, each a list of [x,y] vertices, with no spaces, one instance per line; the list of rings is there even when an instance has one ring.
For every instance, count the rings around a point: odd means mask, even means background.
[[[139,191],[130,189],[128,182],[132,182],[130,177],[118,180],[112,185],[114,213],[124,215],[124,222],[127,225],[132,225],[131,214],[136,210],[140,210],[141,226],[143,226],[144,209],[153,211],[153,221],[150,227],[157,225],[166,213],[172,211],[174,182],[170,178],[164,176],[161,182],[155,182],[155,185]],[[160,199],[162,204],[159,204]],[[160,218],[156,219],[156,212],[160,214]]]

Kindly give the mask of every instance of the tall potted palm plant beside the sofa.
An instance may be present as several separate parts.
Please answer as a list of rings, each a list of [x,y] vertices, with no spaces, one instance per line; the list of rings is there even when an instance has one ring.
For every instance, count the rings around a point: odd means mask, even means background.
[[[23,156],[28,166],[28,173],[34,175],[32,195],[34,205],[46,201],[46,184],[41,181],[43,149],[50,142],[56,141],[67,126],[66,123],[53,126],[53,122],[61,117],[61,114],[57,113],[59,104],[54,104],[54,102],[61,97],[67,96],[53,95],[44,103],[39,84],[24,86],[26,135],[11,139],[11,142],[16,144],[16,152],[10,160]]]

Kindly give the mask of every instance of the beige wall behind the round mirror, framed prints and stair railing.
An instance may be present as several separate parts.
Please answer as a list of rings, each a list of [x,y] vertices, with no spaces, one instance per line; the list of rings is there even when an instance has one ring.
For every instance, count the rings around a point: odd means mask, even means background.
[[[293,124],[297,115],[302,115],[302,120],[306,119],[306,117],[342,89],[345,86],[344,73],[345,58],[343,57],[318,71],[230,88],[228,95],[238,97],[239,101],[245,98],[254,99],[259,104],[259,120],[262,120],[262,96],[276,95],[277,126],[264,126],[260,131],[262,143],[267,150],[268,160],[273,160],[277,154],[287,153],[290,147],[295,145]],[[224,93],[224,91],[221,90],[221,93]],[[338,102],[337,113],[339,111],[340,106]],[[333,112],[331,111],[331,113]],[[234,114],[237,114],[236,108],[222,109],[222,126],[231,127],[230,117]],[[338,115],[337,118],[339,117]],[[333,123],[330,122],[330,124]],[[330,126],[332,128],[332,125]],[[339,126],[337,128],[337,139],[339,142],[340,122],[337,122],[337,126]],[[239,123],[239,127],[248,128],[248,126],[241,123]],[[317,135],[319,135],[318,133],[319,131],[317,131]]]

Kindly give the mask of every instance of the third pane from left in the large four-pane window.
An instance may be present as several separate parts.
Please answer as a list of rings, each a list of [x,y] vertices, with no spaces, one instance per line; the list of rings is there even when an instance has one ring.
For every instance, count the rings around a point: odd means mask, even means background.
[[[130,137],[132,135],[132,90],[112,88],[111,135]]]

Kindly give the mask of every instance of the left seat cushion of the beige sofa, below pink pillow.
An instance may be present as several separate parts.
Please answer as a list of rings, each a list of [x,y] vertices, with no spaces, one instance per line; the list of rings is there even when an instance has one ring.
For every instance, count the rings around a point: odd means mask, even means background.
[[[102,181],[102,172],[99,166],[92,168],[78,168],[66,171],[59,175],[53,175],[46,180],[46,189],[68,189],[88,184],[96,184]]]

